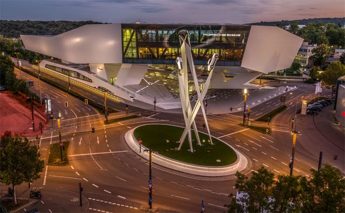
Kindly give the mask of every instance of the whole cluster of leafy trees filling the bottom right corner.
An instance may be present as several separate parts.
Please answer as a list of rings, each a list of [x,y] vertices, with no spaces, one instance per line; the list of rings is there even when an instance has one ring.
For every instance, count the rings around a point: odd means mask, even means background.
[[[261,167],[251,178],[237,172],[237,191],[244,196],[226,205],[233,212],[332,212],[345,211],[345,178],[326,164],[321,172],[311,170],[311,178],[274,174]]]

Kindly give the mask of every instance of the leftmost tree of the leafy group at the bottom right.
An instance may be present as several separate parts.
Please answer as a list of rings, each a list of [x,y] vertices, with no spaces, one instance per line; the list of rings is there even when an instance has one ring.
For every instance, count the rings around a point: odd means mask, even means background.
[[[275,182],[275,175],[264,167],[261,167],[257,172],[253,172],[250,179],[239,172],[236,173],[235,187],[243,193],[243,197],[239,199],[246,205],[242,206],[232,202],[228,205],[229,211],[263,212],[270,210],[269,189]]]

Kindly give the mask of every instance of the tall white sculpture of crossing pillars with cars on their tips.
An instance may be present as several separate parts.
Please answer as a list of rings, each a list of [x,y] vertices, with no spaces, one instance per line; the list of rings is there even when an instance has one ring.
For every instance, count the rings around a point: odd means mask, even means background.
[[[186,124],[186,127],[182,133],[181,138],[180,138],[180,144],[179,144],[177,150],[181,149],[182,144],[183,144],[183,142],[184,142],[184,140],[188,134],[188,142],[189,142],[189,147],[190,147],[189,151],[194,152],[195,150],[193,149],[192,134],[191,134],[191,126],[192,125],[193,125],[193,130],[194,130],[195,136],[197,138],[198,144],[202,145],[200,142],[197,126],[196,126],[195,120],[194,120],[195,116],[197,115],[197,113],[199,111],[199,108],[201,108],[201,110],[203,112],[205,125],[207,127],[207,133],[209,136],[209,141],[211,144],[213,144],[211,134],[210,134],[209,128],[208,128],[207,117],[206,117],[205,108],[203,105],[203,100],[204,100],[206,93],[207,93],[207,88],[208,88],[210,80],[211,80],[214,65],[218,60],[218,53],[214,53],[212,56],[212,59],[208,60],[207,71],[209,71],[209,75],[207,77],[207,80],[205,82],[203,90],[200,92],[198,78],[197,78],[197,74],[195,71],[194,62],[193,62],[192,53],[191,53],[189,33],[186,30],[181,30],[180,32],[178,32],[178,37],[179,37],[180,44],[181,44],[181,56],[182,57],[177,57],[176,63],[177,63],[177,67],[179,69],[179,71],[178,71],[179,94],[180,94],[183,117],[184,117],[184,122]],[[192,73],[194,85],[195,85],[197,96],[198,96],[198,100],[197,100],[196,105],[194,106],[193,110],[192,110],[192,106],[191,106],[191,103],[189,100],[188,66],[187,66],[188,64],[189,64],[190,71]]]

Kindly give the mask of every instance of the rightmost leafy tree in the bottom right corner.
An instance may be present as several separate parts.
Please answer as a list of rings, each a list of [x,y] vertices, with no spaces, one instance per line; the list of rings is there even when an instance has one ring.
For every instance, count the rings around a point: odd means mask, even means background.
[[[345,212],[344,186],[345,179],[335,167],[326,164],[321,172],[311,170],[307,199],[302,212]]]

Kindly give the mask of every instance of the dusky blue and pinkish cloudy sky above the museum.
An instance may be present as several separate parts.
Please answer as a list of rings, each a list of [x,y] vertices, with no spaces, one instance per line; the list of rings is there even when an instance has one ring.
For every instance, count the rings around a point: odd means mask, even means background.
[[[0,0],[3,20],[244,24],[344,16],[344,0]]]

